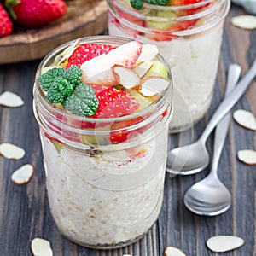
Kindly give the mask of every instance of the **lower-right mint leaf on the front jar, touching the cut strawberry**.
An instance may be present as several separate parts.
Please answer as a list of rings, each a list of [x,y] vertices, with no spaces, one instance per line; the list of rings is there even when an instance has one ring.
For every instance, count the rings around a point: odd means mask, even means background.
[[[95,90],[89,85],[80,83],[73,90],[72,95],[64,100],[63,107],[81,116],[91,116],[96,113],[99,105],[94,93]]]

